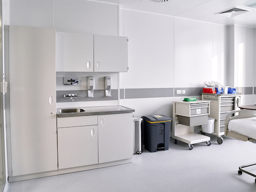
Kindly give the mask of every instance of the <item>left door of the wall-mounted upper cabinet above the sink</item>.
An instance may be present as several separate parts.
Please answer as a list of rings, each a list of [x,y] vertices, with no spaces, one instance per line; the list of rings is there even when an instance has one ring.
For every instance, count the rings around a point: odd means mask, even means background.
[[[56,71],[93,71],[93,35],[57,32]]]

